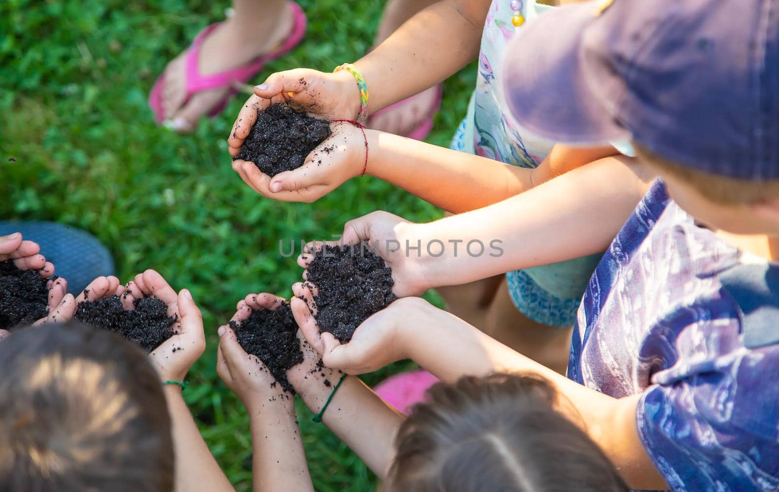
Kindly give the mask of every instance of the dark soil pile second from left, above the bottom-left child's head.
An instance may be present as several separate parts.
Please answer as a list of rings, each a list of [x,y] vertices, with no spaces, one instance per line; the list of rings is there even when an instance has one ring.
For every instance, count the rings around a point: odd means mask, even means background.
[[[135,309],[125,310],[118,296],[79,302],[76,319],[86,325],[116,332],[151,353],[174,335],[175,316],[167,315],[167,305],[157,297],[133,301]],[[174,348],[184,350],[183,348]]]

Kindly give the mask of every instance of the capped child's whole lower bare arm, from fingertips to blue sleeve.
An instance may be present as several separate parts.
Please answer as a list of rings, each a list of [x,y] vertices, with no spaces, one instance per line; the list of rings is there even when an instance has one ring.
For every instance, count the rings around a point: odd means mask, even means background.
[[[354,332],[351,342],[341,345],[330,333],[319,337],[306,305],[311,298],[304,299],[294,299],[293,313],[309,342],[322,350],[327,367],[361,374],[411,358],[445,382],[466,374],[538,374],[562,395],[567,404],[561,410],[604,450],[631,487],[668,488],[638,436],[640,394],[615,399],[579,385],[418,297],[397,300],[372,315]]]

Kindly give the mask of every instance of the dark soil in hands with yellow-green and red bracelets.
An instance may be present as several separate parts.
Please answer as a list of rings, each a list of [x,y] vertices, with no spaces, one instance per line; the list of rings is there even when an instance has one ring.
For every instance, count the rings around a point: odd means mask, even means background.
[[[329,136],[327,120],[306,116],[286,103],[277,103],[257,115],[241,153],[233,160],[248,160],[273,177],[301,167],[305,157]]]

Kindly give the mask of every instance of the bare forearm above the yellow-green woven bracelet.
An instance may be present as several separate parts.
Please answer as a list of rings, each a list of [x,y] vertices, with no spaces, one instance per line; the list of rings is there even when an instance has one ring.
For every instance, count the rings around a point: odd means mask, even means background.
[[[442,82],[477,57],[489,0],[442,0],[354,62],[373,113]],[[442,56],[446,53],[446,56]]]

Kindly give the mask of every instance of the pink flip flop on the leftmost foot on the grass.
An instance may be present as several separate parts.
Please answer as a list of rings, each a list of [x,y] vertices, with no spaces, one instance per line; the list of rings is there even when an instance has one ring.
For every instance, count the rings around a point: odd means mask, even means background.
[[[305,34],[305,13],[300,5],[295,2],[287,2],[287,5],[289,5],[290,10],[292,11],[293,18],[292,30],[287,39],[284,40],[276,50],[263,54],[246,65],[242,65],[236,69],[225,70],[224,72],[215,73],[210,76],[203,76],[200,73],[198,69],[200,47],[203,45],[203,40],[206,39],[206,36],[217,29],[220,23],[211,24],[200,31],[197,37],[195,37],[195,40],[192,41],[192,45],[187,49],[185,60],[187,71],[186,96],[182,106],[187,104],[189,98],[192,97],[192,94],[198,93],[201,90],[229,87],[230,90],[225,94],[224,98],[208,113],[210,118],[217,116],[217,114],[220,114],[224,110],[224,107],[227,106],[231,97],[238,92],[234,88],[234,83],[246,83],[253,76],[256,76],[267,62],[279,58],[286,54],[287,51],[290,51],[293,47],[297,46]],[[149,94],[149,106],[152,111],[154,111],[154,119],[157,121],[158,125],[161,125],[164,121],[164,111],[162,108],[162,88],[164,86],[164,80],[165,73],[163,72],[162,75],[157,78],[157,81],[154,83],[151,93]]]

